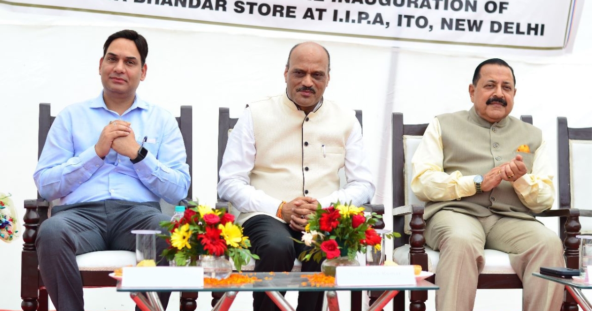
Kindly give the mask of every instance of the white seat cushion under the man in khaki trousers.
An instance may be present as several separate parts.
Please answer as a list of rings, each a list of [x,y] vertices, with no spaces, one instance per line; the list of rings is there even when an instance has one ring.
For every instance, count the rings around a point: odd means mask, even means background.
[[[392,261],[400,265],[409,264],[409,249],[410,245],[398,247],[392,253]],[[440,259],[440,252],[434,251],[426,245],[427,254],[427,270],[430,272],[437,271],[438,261]],[[436,267],[436,268],[434,268]],[[485,249],[485,267],[482,274],[516,274],[516,271],[510,265],[510,257],[507,253],[496,251],[494,249]]]

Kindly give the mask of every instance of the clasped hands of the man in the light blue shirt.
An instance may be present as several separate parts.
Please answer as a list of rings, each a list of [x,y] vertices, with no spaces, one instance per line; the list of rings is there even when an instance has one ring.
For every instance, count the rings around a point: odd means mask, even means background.
[[[104,159],[111,149],[131,159],[136,158],[140,144],[136,142],[136,135],[131,129],[131,123],[114,120],[103,128],[95,145],[96,155]]]

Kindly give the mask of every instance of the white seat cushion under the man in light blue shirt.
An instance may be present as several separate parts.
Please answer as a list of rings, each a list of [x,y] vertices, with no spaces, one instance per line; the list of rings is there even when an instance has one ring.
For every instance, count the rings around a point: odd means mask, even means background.
[[[136,265],[136,253],[130,251],[89,252],[76,256],[81,271],[112,271],[115,268]]]

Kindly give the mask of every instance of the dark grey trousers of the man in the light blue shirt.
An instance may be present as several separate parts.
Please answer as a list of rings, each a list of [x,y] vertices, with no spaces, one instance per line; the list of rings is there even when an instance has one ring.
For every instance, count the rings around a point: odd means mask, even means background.
[[[159,223],[170,220],[157,202],[98,201],[55,206],[52,217],[41,223],[35,246],[39,270],[47,293],[57,311],[82,311],[82,278],[76,255],[96,251],[136,251],[131,230],[162,230]],[[167,247],[156,238],[158,265],[168,265],[160,254]],[[159,295],[163,307],[170,293]]]

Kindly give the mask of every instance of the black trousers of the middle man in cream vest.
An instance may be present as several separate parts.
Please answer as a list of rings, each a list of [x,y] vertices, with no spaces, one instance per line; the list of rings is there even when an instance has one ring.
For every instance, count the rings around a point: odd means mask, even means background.
[[[302,232],[290,227],[273,217],[258,215],[243,224],[243,233],[249,237],[251,252],[259,255],[255,262],[256,272],[291,271],[294,259],[309,247],[293,241],[300,240]],[[321,264],[310,259],[302,263],[303,272],[321,271]],[[301,291],[298,293],[297,311],[320,311],[323,307],[324,291]],[[282,292],[285,295],[285,291]],[[272,311],[279,308],[266,293],[253,293],[253,311]]]

